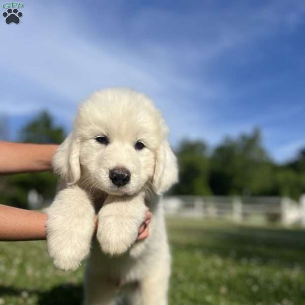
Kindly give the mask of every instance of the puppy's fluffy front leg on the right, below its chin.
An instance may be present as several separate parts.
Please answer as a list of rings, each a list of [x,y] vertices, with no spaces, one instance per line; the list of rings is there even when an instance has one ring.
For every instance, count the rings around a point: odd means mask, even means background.
[[[136,241],[147,207],[144,193],[135,196],[109,195],[99,211],[97,238],[104,253],[125,253]]]

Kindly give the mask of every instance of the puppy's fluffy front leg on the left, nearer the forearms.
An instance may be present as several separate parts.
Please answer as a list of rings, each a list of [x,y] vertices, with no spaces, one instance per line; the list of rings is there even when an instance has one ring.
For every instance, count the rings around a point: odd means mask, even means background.
[[[90,251],[95,210],[79,187],[60,191],[47,208],[47,248],[54,265],[75,270]]]

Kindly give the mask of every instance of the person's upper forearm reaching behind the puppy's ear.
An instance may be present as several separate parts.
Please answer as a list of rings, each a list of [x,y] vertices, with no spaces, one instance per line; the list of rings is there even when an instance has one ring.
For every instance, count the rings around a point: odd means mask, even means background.
[[[51,144],[0,141],[0,174],[50,170],[57,147]]]

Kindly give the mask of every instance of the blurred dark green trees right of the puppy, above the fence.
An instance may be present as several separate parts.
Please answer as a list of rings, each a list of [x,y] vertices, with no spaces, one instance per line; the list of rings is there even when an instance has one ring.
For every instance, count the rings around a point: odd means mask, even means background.
[[[288,196],[305,193],[305,149],[285,164],[270,158],[254,129],[226,137],[214,149],[202,140],[185,139],[177,147],[179,195]]]

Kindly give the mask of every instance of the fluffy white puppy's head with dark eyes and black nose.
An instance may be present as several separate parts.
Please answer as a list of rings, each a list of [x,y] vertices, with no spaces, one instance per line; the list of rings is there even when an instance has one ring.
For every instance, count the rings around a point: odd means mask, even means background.
[[[81,182],[107,194],[157,194],[177,181],[176,158],[160,111],[130,89],[94,93],[79,107],[72,133],[53,159],[69,184]]]

